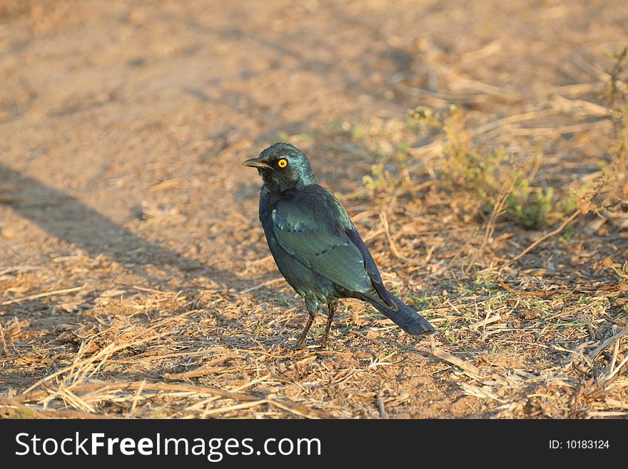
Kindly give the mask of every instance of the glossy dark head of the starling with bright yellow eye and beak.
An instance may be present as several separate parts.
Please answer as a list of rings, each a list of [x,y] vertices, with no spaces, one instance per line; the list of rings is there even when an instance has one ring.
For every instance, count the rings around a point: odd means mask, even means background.
[[[250,158],[242,164],[257,168],[271,191],[283,192],[316,183],[308,157],[290,143],[275,143],[262,151],[259,158]]]

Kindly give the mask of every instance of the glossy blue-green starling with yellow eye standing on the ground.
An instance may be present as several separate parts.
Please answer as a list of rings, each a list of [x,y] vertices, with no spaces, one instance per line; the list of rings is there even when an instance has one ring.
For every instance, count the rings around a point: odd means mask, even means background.
[[[262,176],[260,221],[268,248],[310,313],[295,348],[303,346],[321,304],[328,307],[322,341],[327,345],[339,298],[370,303],[409,334],[434,332],[425,318],[386,290],[347,211],[316,183],[303,152],[290,143],[275,143],[242,164]]]

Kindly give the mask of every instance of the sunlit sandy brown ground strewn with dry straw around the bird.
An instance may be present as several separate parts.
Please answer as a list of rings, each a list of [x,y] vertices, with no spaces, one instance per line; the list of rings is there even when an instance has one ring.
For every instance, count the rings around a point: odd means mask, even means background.
[[[514,261],[566,216],[485,237],[405,116],[455,104],[486,148],[541,146],[562,200],[612,160],[626,24],[621,0],[0,1],[0,415],[625,417],[622,222]],[[278,140],[433,341],[347,301],[327,349],[320,316],[290,350],[306,313],[239,166]],[[366,191],[375,163],[408,186]]]

